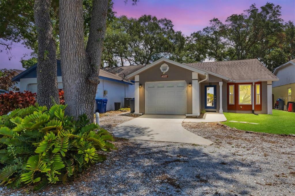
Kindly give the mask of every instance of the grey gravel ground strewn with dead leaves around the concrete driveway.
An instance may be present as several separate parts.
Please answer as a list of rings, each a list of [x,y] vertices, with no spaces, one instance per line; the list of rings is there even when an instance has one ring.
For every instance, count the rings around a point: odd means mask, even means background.
[[[130,116],[101,117],[111,131]],[[183,123],[216,144],[117,139],[117,151],[68,185],[0,195],[295,195],[295,137]]]

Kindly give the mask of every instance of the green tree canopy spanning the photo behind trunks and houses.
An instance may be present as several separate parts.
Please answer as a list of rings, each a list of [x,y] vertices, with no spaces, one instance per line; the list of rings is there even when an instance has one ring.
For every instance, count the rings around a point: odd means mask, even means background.
[[[89,35],[92,2],[83,0],[85,43]],[[33,4],[33,0],[0,2],[0,39],[24,41],[25,46],[36,53]],[[273,3],[266,3],[260,8],[252,4],[243,13],[228,16],[224,22],[213,18],[209,26],[189,36],[175,31],[172,21],[166,18],[158,19],[151,15],[138,19],[116,17],[112,6],[113,2],[109,0],[102,67],[145,65],[150,59],[160,57],[186,63],[205,59],[257,58],[273,71],[275,67],[295,58],[294,22],[284,22],[281,6]],[[59,58],[58,0],[52,0],[50,14]],[[32,59],[22,60],[23,67],[34,64],[34,58],[33,54]]]

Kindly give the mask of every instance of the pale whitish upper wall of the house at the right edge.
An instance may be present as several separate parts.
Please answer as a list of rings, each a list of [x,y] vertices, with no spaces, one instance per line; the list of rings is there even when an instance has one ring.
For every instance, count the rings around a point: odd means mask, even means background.
[[[278,77],[279,81],[273,81],[273,87],[295,83],[295,65],[290,63],[278,69],[276,77]]]

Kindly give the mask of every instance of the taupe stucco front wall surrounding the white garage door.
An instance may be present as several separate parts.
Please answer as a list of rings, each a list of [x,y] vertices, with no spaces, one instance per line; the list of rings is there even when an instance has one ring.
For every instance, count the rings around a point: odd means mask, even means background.
[[[188,85],[192,81],[192,71],[183,69],[170,63],[166,63],[169,66],[168,72],[165,73],[168,75],[168,78],[161,78],[161,75],[163,75],[163,73],[160,71],[160,66],[162,64],[163,62],[139,74],[139,84],[142,85],[142,88],[139,89],[139,112],[145,114],[145,82],[185,80],[187,84],[187,114],[191,114],[192,88]]]

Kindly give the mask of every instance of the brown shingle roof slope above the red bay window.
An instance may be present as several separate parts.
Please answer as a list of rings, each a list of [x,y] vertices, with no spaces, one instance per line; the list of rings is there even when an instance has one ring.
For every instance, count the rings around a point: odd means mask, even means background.
[[[278,79],[258,59],[189,63],[189,65],[225,76],[233,81]]]

